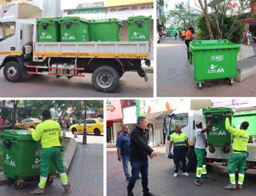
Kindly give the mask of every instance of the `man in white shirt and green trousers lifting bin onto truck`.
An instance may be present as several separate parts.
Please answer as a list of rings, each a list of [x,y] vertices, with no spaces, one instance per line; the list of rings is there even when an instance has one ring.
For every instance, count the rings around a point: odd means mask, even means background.
[[[196,143],[195,143],[195,153],[197,155],[197,172],[195,184],[200,186],[200,179],[210,181],[207,177],[206,172],[206,160],[205,160],[205,147],[206,147],[206,132],[210,130],[211,125],[211,115],[207,115],[208,124],[206,128],[203,128],[201,121],[196,122]]]

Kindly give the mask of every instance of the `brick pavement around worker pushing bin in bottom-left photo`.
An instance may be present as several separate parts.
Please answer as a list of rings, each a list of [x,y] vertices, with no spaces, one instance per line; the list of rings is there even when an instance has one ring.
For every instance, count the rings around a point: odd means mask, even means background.
[[[73,137],[69,132],[66,136]],[[88,144],[82,144],[82,135],[79,134],[76,140],[77,149],[67,172],[71,183],[70,190],[65,192],[60,178],[57,177],[51,185],[45,187],[44,195],[103,196],[103,137],[88,135]],[[30,195],[29,191],[34,190],[37,184],[36,181],[28,182],[20,190],[3,184],[0,185],[0,195]]]

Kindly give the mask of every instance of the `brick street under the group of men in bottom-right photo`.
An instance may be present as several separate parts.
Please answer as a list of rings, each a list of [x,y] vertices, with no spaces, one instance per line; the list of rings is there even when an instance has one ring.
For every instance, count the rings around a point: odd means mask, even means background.
[[[158,147],[154,148],[157,150]],[[159,153],[159,151],[158,151]],[[208,168],[208,177],[214,179],[206,182],[202,181],[201,186],[194,184],[196,173],[189,172],[190,176],[185,177],[181,175],[175,178],[174,175],[174,162],[172,159],[165,158],[164,153],[159,153],[157,158],[149,160],[148,168],[148,188],[150,192],[157,196],[171,195],[171,196],[185,196],[185,195],[232,195],[232,196],[245,196],[255,195],[255,178],[256,171],[246,170],[244,187],[242,190],[225,190],[224,186],[229,184],[228,172],[226,167],[214,165]],[[238,179],[238,174],[237,179]],[[111,196],[127,195],[126,181],[122,163],[117,160],[116,148],[107,148],[106,153],[106,193]],[[137,180],[134,187],[134,195],[141,196],[142,186],[141,180]]]

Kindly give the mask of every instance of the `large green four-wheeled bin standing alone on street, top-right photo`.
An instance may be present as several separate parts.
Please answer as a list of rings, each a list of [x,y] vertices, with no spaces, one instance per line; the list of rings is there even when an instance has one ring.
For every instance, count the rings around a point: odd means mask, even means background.
[[[189,51],[199,89],[205,80],[228,78],[229,84],[233,84],[240,45],[230,43],[227,39],[193,40],[189,42]]]

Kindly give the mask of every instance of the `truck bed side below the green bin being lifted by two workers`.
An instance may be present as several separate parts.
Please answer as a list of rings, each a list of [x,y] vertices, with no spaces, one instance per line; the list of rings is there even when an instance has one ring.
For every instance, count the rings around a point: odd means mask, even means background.
[[[215,153],[211,154],[209,152],[209,148],[206,148],[207,156],[206,158],[210,159],[229,159],[229,157],[232,154],[232,149],[229,153],[225,154],[222,150],[222,147],[215,147],[216,151]],[[256,161],[256,144],[254,143],[248,143],[247,145],[247,151],[249,152],[249,157],[246,159],[246,161]]]

